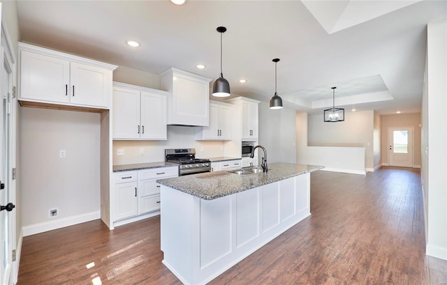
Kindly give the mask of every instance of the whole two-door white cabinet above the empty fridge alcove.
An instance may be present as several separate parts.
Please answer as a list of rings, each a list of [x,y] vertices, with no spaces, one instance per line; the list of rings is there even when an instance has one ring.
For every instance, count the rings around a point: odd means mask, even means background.
[[[117,66],[19,43],[19,100],[108,109]]]

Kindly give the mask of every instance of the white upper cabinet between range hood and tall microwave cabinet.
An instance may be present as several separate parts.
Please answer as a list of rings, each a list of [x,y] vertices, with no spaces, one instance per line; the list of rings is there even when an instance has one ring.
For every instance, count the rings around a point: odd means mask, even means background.
[[[196,140],[230,141],[233,105],[210,101],[210,125],[196,128]]]

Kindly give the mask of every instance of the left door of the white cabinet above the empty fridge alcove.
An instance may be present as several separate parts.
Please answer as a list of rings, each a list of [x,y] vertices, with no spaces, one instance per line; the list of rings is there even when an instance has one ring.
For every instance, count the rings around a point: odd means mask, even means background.
[[[19,100],[70,102],[70,61],[22,50]]]

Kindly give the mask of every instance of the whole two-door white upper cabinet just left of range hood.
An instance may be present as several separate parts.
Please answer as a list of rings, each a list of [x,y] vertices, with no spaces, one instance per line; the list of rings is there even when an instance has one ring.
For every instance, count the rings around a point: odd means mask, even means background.
[[[166,140],[167,92],[114,82],[113,139]]]

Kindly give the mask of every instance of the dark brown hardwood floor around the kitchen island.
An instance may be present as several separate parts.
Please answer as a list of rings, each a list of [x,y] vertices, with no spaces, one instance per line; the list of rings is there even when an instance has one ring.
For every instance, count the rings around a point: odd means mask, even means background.
[[[311,177],[312,215],[210,284],[447,284],[425,256],[419,169]],[[159,217],[96,220],[25,237],[18,284],[182,284],[162,259]]]

